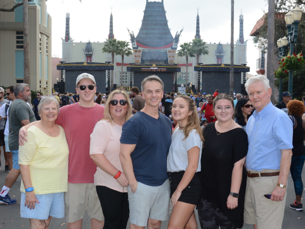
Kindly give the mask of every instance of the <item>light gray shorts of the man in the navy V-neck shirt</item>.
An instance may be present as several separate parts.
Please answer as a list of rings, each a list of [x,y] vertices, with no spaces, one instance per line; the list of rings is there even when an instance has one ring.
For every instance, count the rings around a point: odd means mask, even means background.
[[[130,223],[146,227],[147,220],[168,219],[170,206],[170,182],[167,179],[161,186],[149,186],[138,182],[135,193],[127,186]]]

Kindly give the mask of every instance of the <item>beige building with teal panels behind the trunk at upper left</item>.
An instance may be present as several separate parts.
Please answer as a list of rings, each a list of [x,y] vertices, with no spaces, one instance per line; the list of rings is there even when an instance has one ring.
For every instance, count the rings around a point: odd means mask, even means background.
[[[1,4],[12,2],[1,0]],[[5,8],[12,8],[12,4]],[[52,17],[46,0],[28,3],[30,45],[30,89],[51,92]],[[0,85],[23,83],[23,5],[0,14]]]

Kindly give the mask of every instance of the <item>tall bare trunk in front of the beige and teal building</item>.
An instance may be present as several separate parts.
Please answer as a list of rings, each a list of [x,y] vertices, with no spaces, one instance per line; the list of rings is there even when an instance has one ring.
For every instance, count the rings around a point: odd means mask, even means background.
[[[28,15],[27,0],[23,0],[23,3],[24,3],[23,4],[23,71],[24,71],[24,83],[26,83],[28,85],[31,85],[30,47],[29,47],[29,15]]]

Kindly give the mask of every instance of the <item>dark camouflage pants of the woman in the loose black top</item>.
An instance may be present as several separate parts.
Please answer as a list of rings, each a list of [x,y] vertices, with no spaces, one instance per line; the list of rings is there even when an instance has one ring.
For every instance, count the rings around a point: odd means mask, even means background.
[[[236,229],[217,206],[203,198],[198,203],[198,216],[202,229]]]

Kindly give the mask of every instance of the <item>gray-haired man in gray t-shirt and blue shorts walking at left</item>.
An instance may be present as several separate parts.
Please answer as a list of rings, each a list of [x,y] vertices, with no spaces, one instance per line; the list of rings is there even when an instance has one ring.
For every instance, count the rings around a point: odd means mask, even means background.
[[[9,189],[13,186],[20,174],[18,165],[19,130],[21,127],[35,122],[35,115],[27,100],[31,99],[31,91],[28,84],[20,83],[14,88],[16,99],[9,106],[9,149],[13,154],[13,169],[5,178],[4,186],[0,192],[0,203],[14,204],[15,199],[9,197]]]

